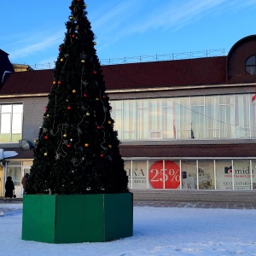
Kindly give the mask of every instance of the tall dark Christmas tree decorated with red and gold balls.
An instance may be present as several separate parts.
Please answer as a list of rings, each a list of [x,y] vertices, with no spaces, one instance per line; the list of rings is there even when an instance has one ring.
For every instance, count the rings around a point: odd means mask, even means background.
[[[86,4],[69,9],[26,193],[128,192]]]

